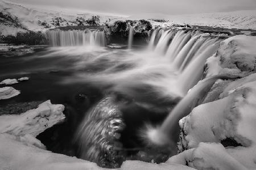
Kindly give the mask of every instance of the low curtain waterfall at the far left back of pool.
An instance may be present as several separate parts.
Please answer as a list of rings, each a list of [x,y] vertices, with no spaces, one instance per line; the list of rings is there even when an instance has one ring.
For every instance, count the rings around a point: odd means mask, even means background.
[[[49,30],[46,37],[52,46],[93,45],[106,46],[104,31],[86,30]]]

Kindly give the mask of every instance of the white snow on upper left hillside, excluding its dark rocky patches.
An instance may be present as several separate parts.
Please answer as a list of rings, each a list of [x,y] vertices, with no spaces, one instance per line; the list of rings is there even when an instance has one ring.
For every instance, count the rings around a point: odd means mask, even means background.
[[[84,19],[92,18],[94,15],[100,15],[100,24],[104,25],[106,19],[109,18],[121,18],[115,15],[108,14],[95,14],[88,11],[82,11],[77,9],[65,9],[50,6],[33,6],[27,4],[19,4],[10,1],[0,1],[0,11],[9,15],[12,19],[18,21],[21,25],[18,27],[14,23],[1,23],[0,35],[16,35],[17,32],[42,31],[45,32],[48,28],[45,25],[39,23],[46,23],[50,28],[56,27],[53,20],[57,17],[61,18],[59,26],[77,25],[75,19],[82,17]],[[40,22],[39,22],[40,21]],[[6,21],[4,21],[6,22]]]

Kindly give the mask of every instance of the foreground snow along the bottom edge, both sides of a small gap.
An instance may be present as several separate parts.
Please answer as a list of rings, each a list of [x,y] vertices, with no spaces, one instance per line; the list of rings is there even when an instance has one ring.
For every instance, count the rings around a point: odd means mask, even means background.
[[[65,169],[106,169],[101,168],[86,160],[77,159],[75,157],[55,154],[51,151],[39,148],[40,141],[30,136],[24,140],[24,137],[15,137],[10,134],[0,134],[0,168],[2,169],[19,169],[19,170],[65,170]],[[28,138],[28,137],[26,137]],[[38,144],[39,143],[39,144]],[[126,161],[119,170],[136,170],[136,169],[193,169],[185,165],[173,163],[145,163],[140,161]]]

